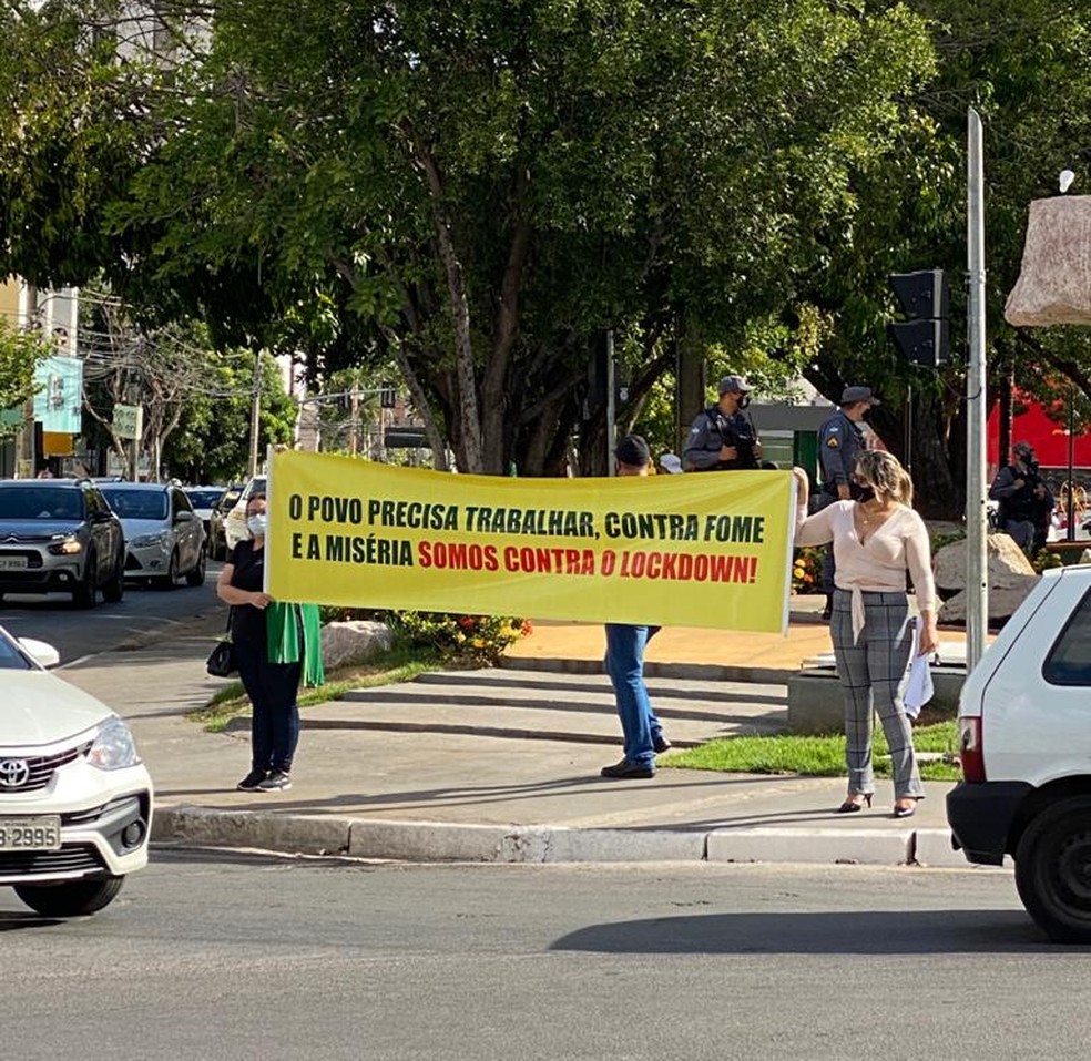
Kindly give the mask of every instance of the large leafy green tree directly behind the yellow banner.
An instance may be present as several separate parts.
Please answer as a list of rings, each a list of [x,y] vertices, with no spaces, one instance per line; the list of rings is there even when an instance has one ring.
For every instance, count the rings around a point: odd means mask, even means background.
[[[604,425],[597,329],[639,400],[680,314],[730,340],[817,267],[930,61],[903,9],[810,0],[234,0],[124,232],[166,284],[256,257],[344,304],[461,468],[539,473]]]

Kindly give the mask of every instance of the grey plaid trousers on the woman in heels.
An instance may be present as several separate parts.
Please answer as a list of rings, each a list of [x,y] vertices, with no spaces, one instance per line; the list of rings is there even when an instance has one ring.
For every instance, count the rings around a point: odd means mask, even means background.
[[[922,796],[917,771],[912,727],[906,717],[901,693],[912,651],[912,620],[905,593],[865,593],[864,629],[853,642],[853,594],[834,593],[829,634],[834,642],[837,675],[845,693],[845,758],[848,790],[874,793],[871,714],[878,714],[890,746],[894,798]]]

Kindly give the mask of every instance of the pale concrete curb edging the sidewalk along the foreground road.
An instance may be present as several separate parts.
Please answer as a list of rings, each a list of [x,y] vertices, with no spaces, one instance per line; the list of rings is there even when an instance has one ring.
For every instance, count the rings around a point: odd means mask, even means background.
[[[944,829],[710,832],[375,822],[204,807],[156,809],[152,840],[410,863],[809,863],[969,868]]]

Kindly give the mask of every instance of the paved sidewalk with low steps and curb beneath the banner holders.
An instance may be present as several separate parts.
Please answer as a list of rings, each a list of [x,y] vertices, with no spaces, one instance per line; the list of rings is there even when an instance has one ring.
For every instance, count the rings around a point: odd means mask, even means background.
[[[663,630],[648,672],[672,739],[782,730],[787,674],[829,651],[822,603],[795,599],[784,637]],[[61,672],[129,718],[155,781],[160,843],[415,860],[967,865],[950,849],[949,784],[927,783],[917,815],[895,822],[889,781],[874,809],[836,815],[843,778],[672,769],[669,757],[652,781],[601,778],[621,739],[602,628],[588,624],[536,624],[499,670],[305,708],[293,788],[238,793],[248,725],[212,734],[184,718],[222,685],[204,673],[222,618]]]

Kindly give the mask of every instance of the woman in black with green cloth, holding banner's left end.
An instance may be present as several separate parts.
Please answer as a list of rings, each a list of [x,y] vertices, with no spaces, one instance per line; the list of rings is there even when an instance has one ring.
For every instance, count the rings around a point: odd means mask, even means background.
[[[246,502],[244,538],[232,550],[216,593],[231,605],[231,640],[249,697],[251,772],[241,792],[286,792],[299,741],[299,682],[322,684],[318,609],[281,604],[265,590],[265,494]]]

